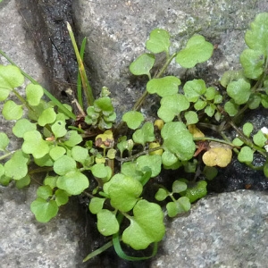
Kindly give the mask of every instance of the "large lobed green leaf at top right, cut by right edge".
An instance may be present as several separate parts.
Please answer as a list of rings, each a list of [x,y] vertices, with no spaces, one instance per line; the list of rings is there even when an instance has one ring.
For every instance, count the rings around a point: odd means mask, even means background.
[[[253,50],[261,51],[265,57],[268,56],[268,13],[259,13],[255,21],[250,23],[247,29],[245,41],[247,46]]]

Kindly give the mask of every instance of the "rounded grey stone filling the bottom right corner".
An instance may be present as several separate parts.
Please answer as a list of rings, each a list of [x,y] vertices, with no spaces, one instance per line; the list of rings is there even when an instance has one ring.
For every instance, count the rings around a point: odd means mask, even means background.
[[[268,196],[239,190],[205,197],[168,222],[156,267],[266,267]]]

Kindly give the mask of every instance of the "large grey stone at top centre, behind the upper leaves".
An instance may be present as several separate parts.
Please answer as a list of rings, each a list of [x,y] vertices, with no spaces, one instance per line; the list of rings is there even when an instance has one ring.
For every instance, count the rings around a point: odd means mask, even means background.
[[[198,74],[217,71],[221,75],[239,62],[244,45],[244,29],[256,13],[267,10],[264,1],[87,1],[73,0],[74,21],[80,38],[88,38],[86,61],[91,81],[100,91],[106,86],[113,92],[119,110],[130,109],[145,84],[132,82],[129,65],[145,51],[152,29],[163,28],[172,35],[174,48],[183,47],[194,33],[200,33],[218,45],[214,58]],[[213,65],[213,67],[210,67]],[[178,67],[170,69],[176,75]],[[217,80],[217,77],[214,78]],[[123,101],[121,101],[123,99]]]

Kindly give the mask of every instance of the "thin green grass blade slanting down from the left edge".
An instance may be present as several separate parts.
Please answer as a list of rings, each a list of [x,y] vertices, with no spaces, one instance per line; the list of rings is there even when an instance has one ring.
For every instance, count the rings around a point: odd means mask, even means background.
[[[37,80],[34,80],[31,76],[29,76],[29,74],[27,74],[26,72],[22,71],[21,68],[16,65],[15,63],[13,63],[13,61],[6,55],[4,54],[4,52],[2,50],[0,50],[0,54],[2,54],[6,60],[9,63],[12,63],[14,66],[16,66],[17,68],[20,69],[21,73],[28,79],[30,80],[33,84],[35,85],[39,85],[41,86]],[[42,87],[43,88],[43,87]],[[65,113],[68,117],[72,118],[72,119],[76,119],[76,115],[74,113],[71,113],[71,111],[69,111],[58,99],[56,99],[50,92],[48,92],[46,90],[46,88],[43,88],[45,95],[54,103],[54,105],[58,106],[59,109],[61,109],[61,111],[63,113]]]

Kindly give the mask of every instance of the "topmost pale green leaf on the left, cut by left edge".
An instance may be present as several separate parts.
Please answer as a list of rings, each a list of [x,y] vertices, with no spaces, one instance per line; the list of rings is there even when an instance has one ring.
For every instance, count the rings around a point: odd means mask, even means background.
[[[13,88],[20,87],[24,76],[18,67],[13,65],[0,65],[0,101],[4,101]]]

